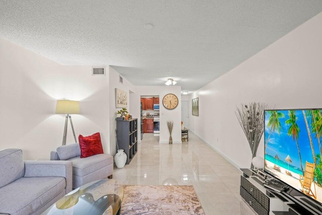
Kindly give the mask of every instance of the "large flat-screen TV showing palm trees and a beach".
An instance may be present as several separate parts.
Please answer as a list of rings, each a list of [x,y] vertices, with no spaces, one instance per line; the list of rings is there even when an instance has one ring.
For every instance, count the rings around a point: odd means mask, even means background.
[[[322,202],[322,112],[265,111],[265,170]]]

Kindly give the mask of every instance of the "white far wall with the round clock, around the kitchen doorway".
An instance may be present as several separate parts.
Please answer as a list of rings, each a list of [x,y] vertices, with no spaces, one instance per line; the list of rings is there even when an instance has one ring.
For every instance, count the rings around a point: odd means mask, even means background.
[[[162,105],[162,99],[168,93],[173,93],[178,97],[179,104],[174,110],[168,110]],[[130,107],[133,115],[140,118],[140,97],[146,95],[159,95],[160,100],[160,136],[159,143],[169,143],[168,120],[174,121],[172,131],[173,143],[181,143],[181,86],[136,86],[136,91],[131,95]],[[138,133],[140,132],[140,129]],[[139,141],[140,142],[140,141]]]

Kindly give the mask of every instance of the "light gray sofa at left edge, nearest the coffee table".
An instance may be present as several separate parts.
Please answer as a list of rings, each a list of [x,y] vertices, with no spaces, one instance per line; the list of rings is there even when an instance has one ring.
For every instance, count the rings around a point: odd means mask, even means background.
[[[0,213],[41,214],[71,191],[71,162],[24,161],[20,149],[0,151]]]

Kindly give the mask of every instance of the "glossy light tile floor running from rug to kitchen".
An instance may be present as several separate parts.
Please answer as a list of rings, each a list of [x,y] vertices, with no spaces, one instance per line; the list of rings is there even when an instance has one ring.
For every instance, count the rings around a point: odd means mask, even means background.
[[[256,214],[239,195],[241,172],[189,132],[189,142],[159,144],[144,133],[129,165],[114,167],[123,184],[193,185],[206,214]]]

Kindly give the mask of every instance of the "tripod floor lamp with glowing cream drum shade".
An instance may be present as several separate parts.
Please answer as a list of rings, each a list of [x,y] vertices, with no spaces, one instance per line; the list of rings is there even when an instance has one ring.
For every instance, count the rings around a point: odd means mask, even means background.
[[[66,145],[66,137],[67,137],[67,124],[68,124],[68,118],[70,121],[72,133],[74,135],[75,142],[76,136],[74,131],[74,126],[72,125],[71,116],[69,114],[79,114],[79,102],[78,101],[70,101],[70,100],[57,100],[56,104],[56,111],[55,113],[60,114],[67,114],[65,118],[65,127],[64,127],[64,134],[62,137],[62,146]]]

